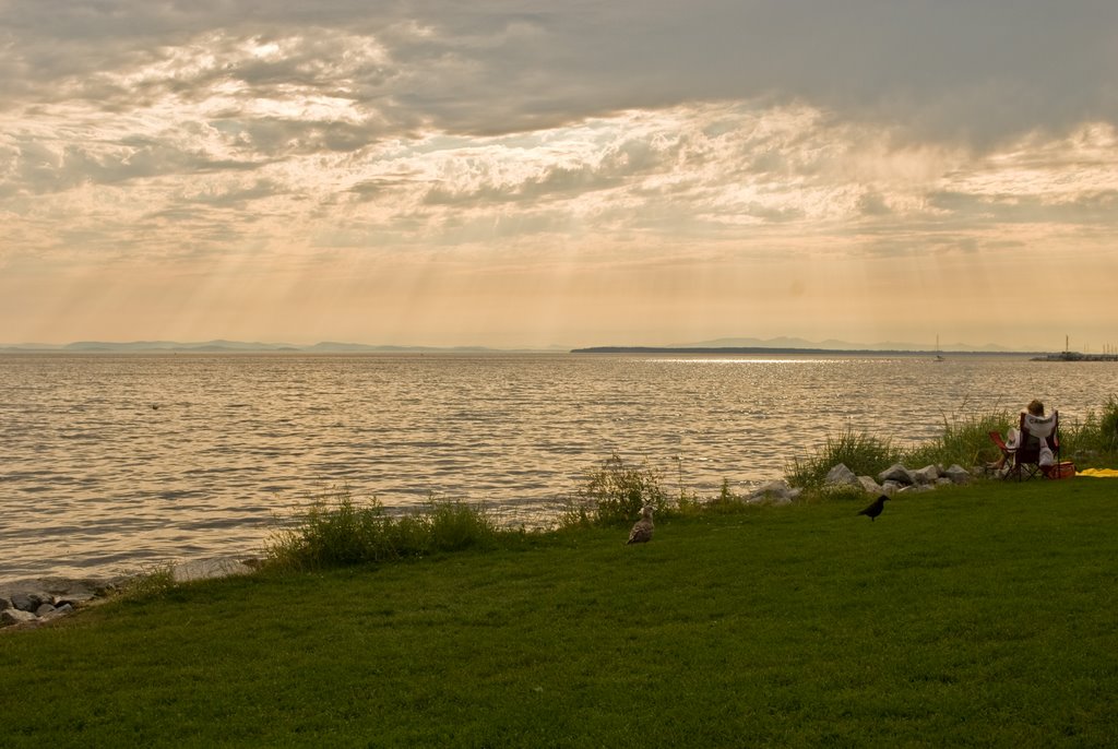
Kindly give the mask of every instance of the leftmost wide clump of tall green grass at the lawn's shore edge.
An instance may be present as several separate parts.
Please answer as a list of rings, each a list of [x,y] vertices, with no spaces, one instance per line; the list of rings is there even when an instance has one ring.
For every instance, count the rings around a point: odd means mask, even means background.
[[[491,546],[500,532],[483,510],[462,502],[428,500],[416,514],[390,516],[376,497],[362,504],[339,489],[277,530],[265,556],[285,569],[343,567]]]

